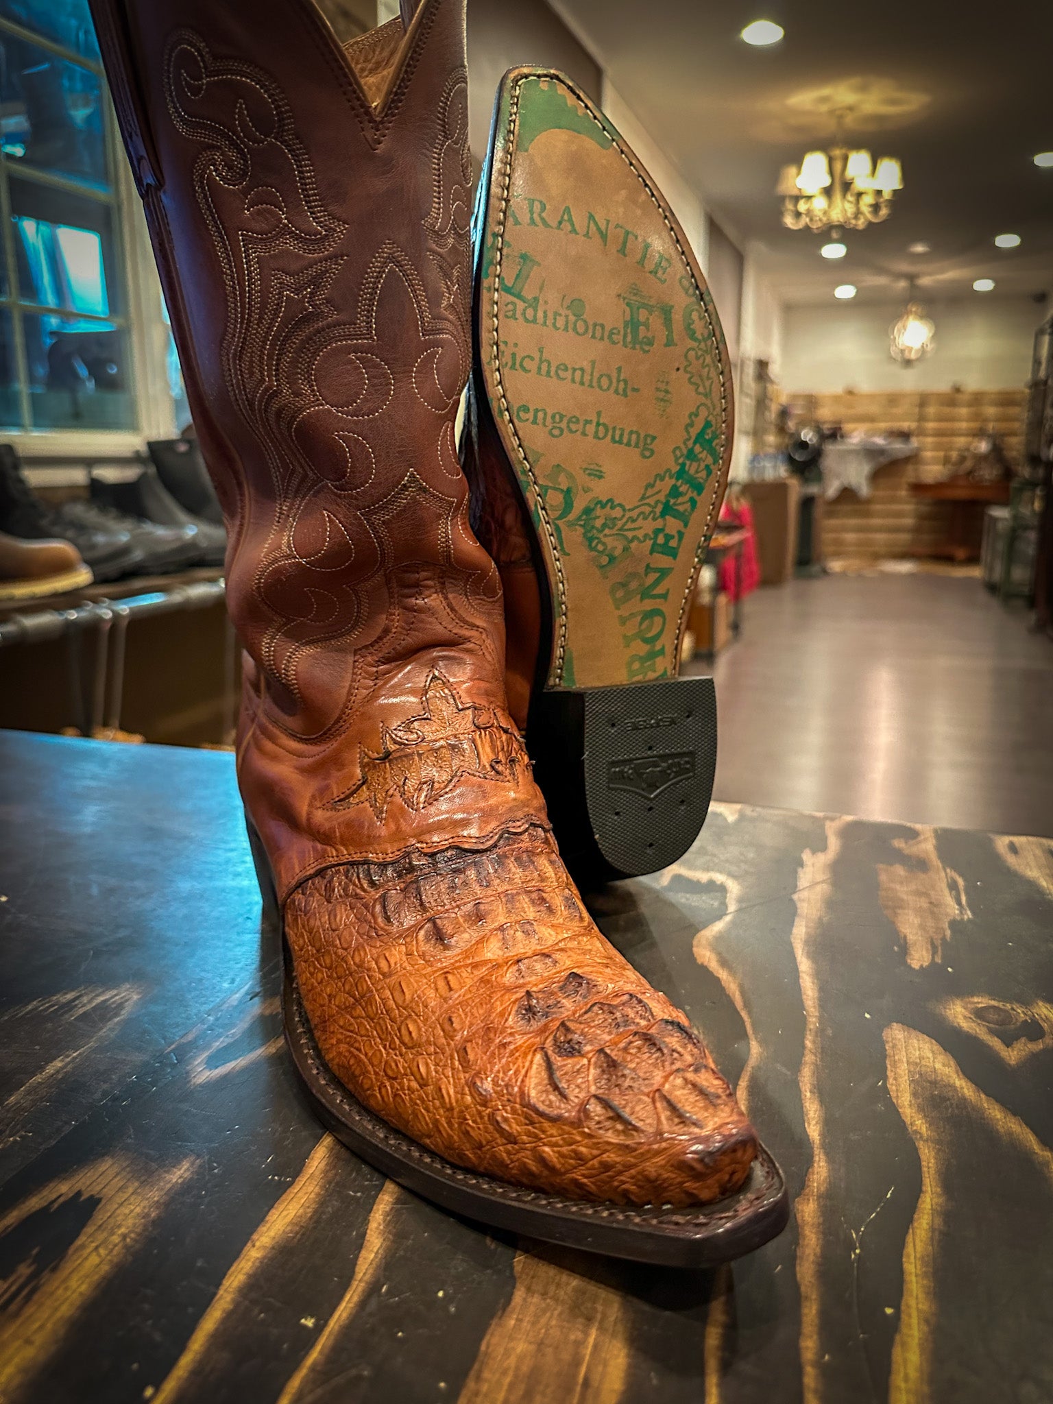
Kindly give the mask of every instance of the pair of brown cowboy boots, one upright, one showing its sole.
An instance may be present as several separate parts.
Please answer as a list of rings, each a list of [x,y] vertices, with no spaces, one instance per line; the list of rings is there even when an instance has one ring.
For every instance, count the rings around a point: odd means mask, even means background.
[[[227,525],[239,782],[316,1109],[490,1224],[685,1265],[755,1247],[778,1170],[588,917],[522,734],[534,703],[573,828],[590,778],[560,746],[625,723],[639,833],[619,849],[612,816],[583,862],[668,847],[647,814],[694,761],[664,733],[696,717],[647,689],[682,687],[730,434],[675,220],[573,84],[515,70],[473,270],[463,0],[343,46],[310,0],[93,10]]]

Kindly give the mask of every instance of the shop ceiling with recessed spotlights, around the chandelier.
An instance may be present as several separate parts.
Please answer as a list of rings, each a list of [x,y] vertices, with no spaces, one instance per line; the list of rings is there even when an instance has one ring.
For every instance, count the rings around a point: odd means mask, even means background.
[[[1053,292],[1050,53],[1053,7],[1038,0],[557,0],[651,136],[790,305],[896,299],[918,278],[931,299]],[[750,48],[751,20],[785,39]],[[830,108],[858,108],[848,145],[899,156],[904,190],[883,225],[848,232],[848,256],[779,223],[781,166],[830,145]],[[1018,233],[1015,250],[994,247]],[[925,240],[928,254],[907,246]],[[974,278],[994,278],[974,293]]]

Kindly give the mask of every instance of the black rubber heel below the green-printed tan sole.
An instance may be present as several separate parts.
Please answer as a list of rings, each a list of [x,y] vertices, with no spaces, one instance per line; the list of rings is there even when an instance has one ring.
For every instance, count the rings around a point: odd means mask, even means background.
[[[691,848],[709,810],[713,680],[549,688],[535,698],[526,744],[580,882],[657,872]]]

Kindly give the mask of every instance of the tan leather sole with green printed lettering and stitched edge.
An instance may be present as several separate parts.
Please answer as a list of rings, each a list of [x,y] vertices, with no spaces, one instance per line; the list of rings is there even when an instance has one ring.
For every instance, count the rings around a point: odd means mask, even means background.
[[[702,272],[615,128],[545,69],[501,83],[476,218],[479,358],[548,580],[548,687],[675,677],[731,448]]]

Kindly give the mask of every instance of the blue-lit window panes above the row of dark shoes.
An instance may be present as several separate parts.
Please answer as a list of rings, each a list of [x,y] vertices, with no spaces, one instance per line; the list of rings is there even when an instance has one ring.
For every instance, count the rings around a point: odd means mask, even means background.
[[[0,0],[0,431],[135,428],[110,124],[87,0]]]

